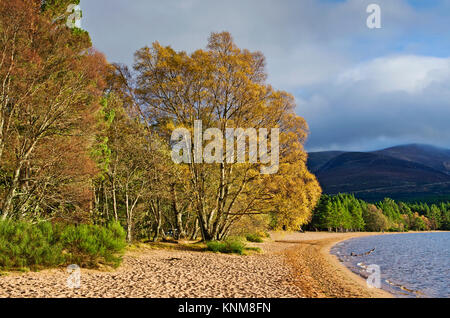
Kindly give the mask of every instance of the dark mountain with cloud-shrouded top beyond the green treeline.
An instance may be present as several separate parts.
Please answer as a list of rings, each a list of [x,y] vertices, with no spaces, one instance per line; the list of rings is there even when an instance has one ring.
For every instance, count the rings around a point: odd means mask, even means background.
[[[327,194],[450,201],[450,149],[411,144],[373,152],[312,152],[308,167]]]

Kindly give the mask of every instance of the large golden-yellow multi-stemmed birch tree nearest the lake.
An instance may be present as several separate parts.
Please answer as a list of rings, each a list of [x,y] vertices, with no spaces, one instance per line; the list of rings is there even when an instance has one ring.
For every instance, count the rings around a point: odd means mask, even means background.
[[[187,54],[154,43],[139,50],[135,61],[136,95],[148,121],[192,132],[201,120],[203,131],[218,128],[224,136],[227,128],[281,130],[284,166],[276,177],[261,175],[260,163],[188,164],[193,208],[205,240],[223,238],[243,215],[291,213],[296,221],[288,223],[294,226],[308,220],[320,187],[306,170],[307,125],[294,113],[294,98],[266,83],[261,53],[238,48],[223,32],[211,35],[207,50]],[[284,183],[285,190],[276,186]]]

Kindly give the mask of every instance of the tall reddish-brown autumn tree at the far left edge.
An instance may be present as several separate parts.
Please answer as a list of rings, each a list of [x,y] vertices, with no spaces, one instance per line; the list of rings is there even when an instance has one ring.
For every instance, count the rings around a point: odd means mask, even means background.
[[[52,172],[46,169],[51,163],[43,163],[45,152],[42,149],[53,150],[54,156],[48,159],[56,164],[53,159],[65,155],[66,145],[78,144],[71,148],[76,149],[78,159],[67,157],[63,161],[66,172],[72,171],[72,178],[60,179],[64,182],[57,185],[59,190],[68,190],[67,182],[74,179],[81,182],[84,178],[86,171],[78,178],[77,169],[71,164],[84,160],[84,166],[90,166],[87,149],[93,133],[92,114],[96,112],[102,93],[105,60],[77,37],[72,30],[42,14],[39,1],[0,1],[0,161],[4,185],[0,201],[3,219],[17,216],[20,211],[20,215],[26,214],[30,191],[36,192],[39,188],[37,196],[45,200],[48,191],[55,190],[55,184],[45,182]],[[62,153],[56,154],[56,150]],[[45,171],[47,173],[43,173]],[[55,201],[50,201],[44,203],[55,208]],[[65,207],[79,203],[69,201],[56,202],[56,205]]]

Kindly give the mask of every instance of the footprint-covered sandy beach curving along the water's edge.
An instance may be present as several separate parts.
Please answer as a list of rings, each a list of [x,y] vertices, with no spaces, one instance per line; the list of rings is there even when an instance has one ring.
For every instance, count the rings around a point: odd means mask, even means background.
[[[303,298],[392,297],[369,289],[345,268],[332,245],[372,233],[273,233],[247,256],[141,248],[114,271],[81,271],[79,289],[65,269],[0,276],[0,297]]]

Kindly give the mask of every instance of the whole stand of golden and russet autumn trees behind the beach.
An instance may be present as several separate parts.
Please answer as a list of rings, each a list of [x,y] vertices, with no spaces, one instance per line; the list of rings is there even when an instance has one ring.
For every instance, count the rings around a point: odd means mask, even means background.
[[[308,126],[293,96],[267,83],[262,53],[212,33],[192,53],[155,42],[130,70],[66,24],[72,4],[0,0],[2,219],[115,220],[129,241],[222,239],[243,218],[294,230],[310,220],[321,189],[306,167]],[[227,160],[213,134],[200,145],[215,161],[175,163],[172,132],[198,121],[202,134],[235,129],[249,154]],[[252,142],[264,160],[249,160]]]

